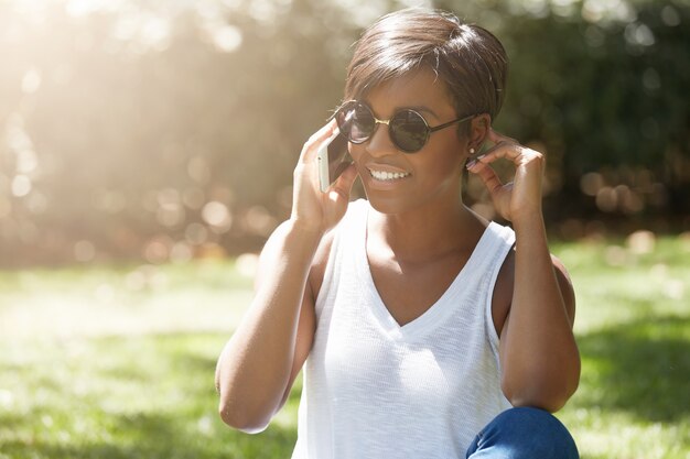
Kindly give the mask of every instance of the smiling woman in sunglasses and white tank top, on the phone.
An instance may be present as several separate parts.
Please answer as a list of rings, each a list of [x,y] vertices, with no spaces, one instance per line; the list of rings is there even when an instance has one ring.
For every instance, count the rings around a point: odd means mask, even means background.
[[[549,414],[579,382],[574,294],[547,247],[545,160],[492,128],[506,73],[497,39],[448,13],[363,34],[219,358],[228,425],[266,428],[304,367],[293,458],[578,457]],[[354,164],[321,193],[316,151],[336,129]],[[513,229],[463,205],[464,167]],[[357,176],[367,200],[349,203]]]

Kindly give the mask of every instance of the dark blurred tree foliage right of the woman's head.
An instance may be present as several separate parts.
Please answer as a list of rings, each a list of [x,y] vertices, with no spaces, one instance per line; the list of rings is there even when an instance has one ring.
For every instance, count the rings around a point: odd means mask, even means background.
[[[550,217],[687,228],[690,2],[560,3],[502,29],[513,66],[500,125],[548,153]]]

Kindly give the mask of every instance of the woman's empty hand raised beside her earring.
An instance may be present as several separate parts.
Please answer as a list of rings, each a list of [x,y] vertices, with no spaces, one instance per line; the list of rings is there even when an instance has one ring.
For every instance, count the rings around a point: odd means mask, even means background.
[[[495,145],[482,156],[470,161],[467,170],[482,178],[496,211],[506,220],[515,223],[516,219],[540,217],[541,183],[546,163],[543,154],[492,128],[488,130],[487,139]],[[502,183],[490,166],[499,159],[506,159],[515,164],[513,182]]]

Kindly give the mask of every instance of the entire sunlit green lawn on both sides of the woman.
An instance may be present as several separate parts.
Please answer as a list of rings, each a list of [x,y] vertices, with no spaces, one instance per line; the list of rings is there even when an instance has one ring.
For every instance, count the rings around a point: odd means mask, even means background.
[[[556,244],[578,293],[580,390],[558,416],[585,459],[690,458],[690,245]],[[250,299],[231,262],[0,273],[0,459],[285,458],[216,415],[216,358]]]

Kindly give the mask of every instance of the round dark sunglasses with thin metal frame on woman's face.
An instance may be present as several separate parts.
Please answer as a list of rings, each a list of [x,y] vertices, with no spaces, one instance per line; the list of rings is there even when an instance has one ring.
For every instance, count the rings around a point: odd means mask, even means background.
[[[389,120],[379,120],[364,102],[349,100],[335,112],[341,133],[352,143],[364,143],[374,135],[378,124],[388,125],[388,135],[392,143],[405,153],[419,152],[429,141],[429,135],[441,129],[466,121],[473,118],[457,118],[456,120],[431,128],[424,117],[412,109],[402,109],[393,113]]]

